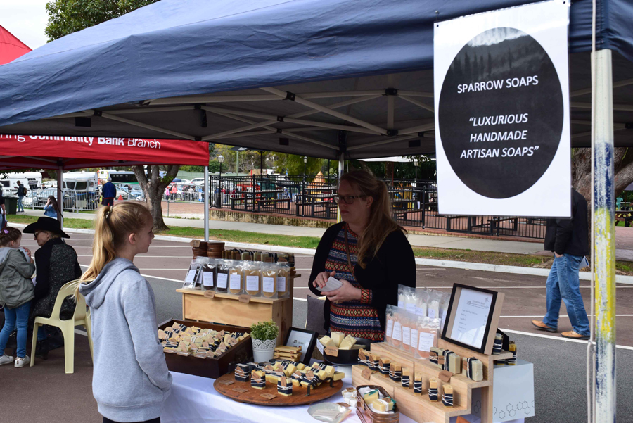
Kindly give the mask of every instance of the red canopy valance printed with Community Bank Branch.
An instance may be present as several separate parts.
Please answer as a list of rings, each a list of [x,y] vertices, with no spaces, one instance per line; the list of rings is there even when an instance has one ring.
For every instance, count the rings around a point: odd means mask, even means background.
[[[186,139],[0,135],[0,154],[0,170],[209,164],[208,144]]]

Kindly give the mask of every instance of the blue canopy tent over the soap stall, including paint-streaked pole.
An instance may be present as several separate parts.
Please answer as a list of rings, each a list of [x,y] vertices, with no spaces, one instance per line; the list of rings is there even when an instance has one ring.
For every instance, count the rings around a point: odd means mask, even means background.
[[[593,126],[596,415],[613,422],[608,168],[612,140],[633,146],[633,3],[595,2],[596,50],[608,52],[596,77],[603,125]],[[175,137],[339,160],[433,153],[433,23],[528,3],[162,0],[0,66],[0,134]],[[575,147],[592,144],[592,10],[570,6]]]

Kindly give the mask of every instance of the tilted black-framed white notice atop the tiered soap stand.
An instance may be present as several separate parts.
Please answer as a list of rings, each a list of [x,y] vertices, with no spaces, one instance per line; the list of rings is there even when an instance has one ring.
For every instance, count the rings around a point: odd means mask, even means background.
[[[442,339],[478,353],[492,354],[503,303],[503,293],[453,284]]]

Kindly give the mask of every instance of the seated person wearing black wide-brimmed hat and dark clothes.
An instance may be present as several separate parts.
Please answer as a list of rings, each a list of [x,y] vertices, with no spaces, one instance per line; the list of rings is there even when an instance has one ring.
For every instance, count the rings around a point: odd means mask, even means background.
[[[64,284],[82,276],[77,262],[75,248],[65,244],[63,238],[70,238],[63,232],[60,222],[50,217],[40,217],[37,222],[24,228],[25,234],[34,234],[39,249],[35,251],[37,277],[35,279],[35,298],[31,308],[30,325],[35,317],[51,317],[57,294]],[[61,319],[68,320],[75,313],[75,303],[65,299],[61,308]],[[35,356],[46,360],[49,343],[46,329],[40,327],[37,332],[38,346]]]

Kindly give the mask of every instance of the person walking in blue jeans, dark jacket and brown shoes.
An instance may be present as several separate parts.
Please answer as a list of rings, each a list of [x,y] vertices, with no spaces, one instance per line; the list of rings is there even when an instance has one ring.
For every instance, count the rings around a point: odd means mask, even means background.
[[[571,339],[589,339],[589,319],[580,295],[578,271],[585,255],[589,254],[587,201],[572,189],[571,219],[548,219],[545,231],[545,249],[554,253],[554,264],[547,277],[547,313],[543,320],[532,324],[547,332],[558,332],[558,312],[561,299],[573,330],[561,335]]]

